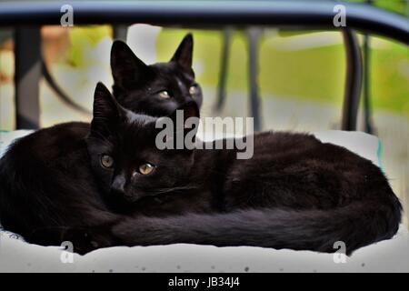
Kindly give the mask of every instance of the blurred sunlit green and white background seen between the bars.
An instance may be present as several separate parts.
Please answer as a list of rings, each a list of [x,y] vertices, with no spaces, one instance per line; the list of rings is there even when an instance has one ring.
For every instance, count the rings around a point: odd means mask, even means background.
[[[354,1],[360,2],[360,1]],[[362,1],[361,1],[362,2]],[[407,15],[407,1],[374,1]],[[186,32],[195,38],[194,69],[203,86],[202,114],[249,115],[249,29],[259,35],[258,86],[263,129],[314,132],[339,129],[344,97],[345,52],[339,32],[284,31],[274,28],[230,27],[226,103],[214,110],[221,76],[223,29],[176,29],[150,25],[128,28],[127,43],[145,63],[167,61]],[[14,43],[11,30],[0,30],[0,130],[15,129]],[[362,43],[363,36],[360,35]],[[75,103],[91,110],[95,84],[112,85],[110,25],[44,26],[43,56],[56,82]],[[409,210],[409,52],[408,47],[371,37],[370,96],[375,135],[384,146],[384,170],[394,191]],[[41,126],[89,121],[61,101],[44,80],[40,84]],[[362,116],[361,116],[362,119]],[[360,127],[362,129],[362,120]],[[407,211],[406,211],[407,213]]]

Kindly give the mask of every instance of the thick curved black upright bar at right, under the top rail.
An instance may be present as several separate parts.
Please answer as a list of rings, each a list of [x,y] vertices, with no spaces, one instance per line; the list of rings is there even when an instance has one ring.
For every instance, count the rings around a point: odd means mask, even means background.
[[[357,36],[349,28],[343,29],[346,52],[344,106],[341,128],[356,130],[359,101],[362,90],[363,65]]]

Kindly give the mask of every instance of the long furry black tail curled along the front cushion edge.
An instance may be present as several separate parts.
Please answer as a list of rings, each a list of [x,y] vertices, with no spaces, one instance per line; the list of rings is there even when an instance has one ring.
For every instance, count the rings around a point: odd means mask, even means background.
[[[341,241],[351,255],[359,247],[393,237],[401,212],[392,193],[384,199],[354,201],[330,210],[252,209],[217,215],[138,217],[123,221],[113,231],[127,246],[190,243],[333,253],[338,249],[334,243]]]

